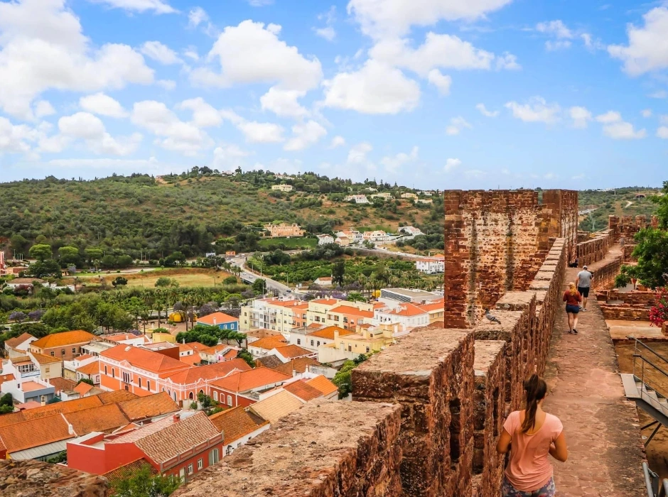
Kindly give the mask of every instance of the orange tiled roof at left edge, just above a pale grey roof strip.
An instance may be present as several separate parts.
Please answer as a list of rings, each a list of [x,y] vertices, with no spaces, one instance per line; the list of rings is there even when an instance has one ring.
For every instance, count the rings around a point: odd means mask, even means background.
[[[21,413],[30,413],[36,409],[38,408],[23,410]],[[51,415],[0,427],[0,440],[2,440],[2,444],[9,453],[60,442],[60,440],[74,438],[75,436],[70,433],[68,422],[60,415]]]

